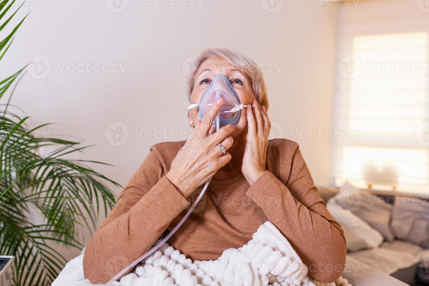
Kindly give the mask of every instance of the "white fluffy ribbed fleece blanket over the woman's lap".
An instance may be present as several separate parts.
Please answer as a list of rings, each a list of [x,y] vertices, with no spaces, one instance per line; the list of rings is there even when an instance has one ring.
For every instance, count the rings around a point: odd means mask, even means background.
[[[83,255],[69,261],[52,286],[94,286],[85,279]],[[307,266],[286,238],[269,221],[239,249],[227,249],[216,260],[194,261],[164,244],[134,270],[112,283],[115,286],[351,286],[338,278],[318,283],[307,275]],[[100,284],[97,284],[100,285]]]

